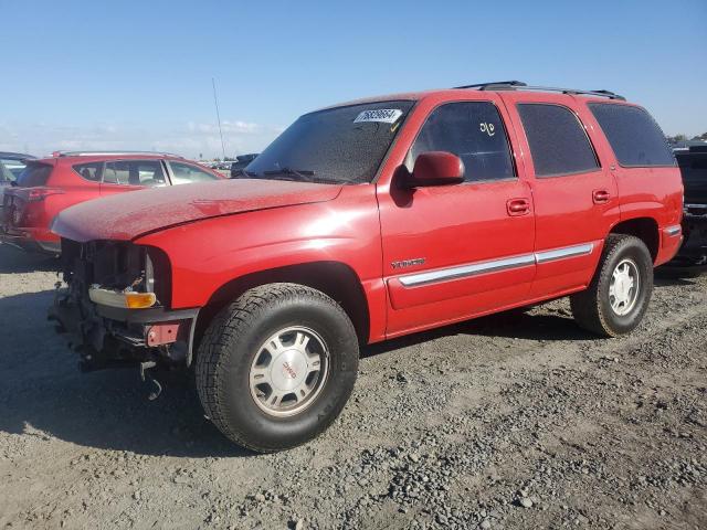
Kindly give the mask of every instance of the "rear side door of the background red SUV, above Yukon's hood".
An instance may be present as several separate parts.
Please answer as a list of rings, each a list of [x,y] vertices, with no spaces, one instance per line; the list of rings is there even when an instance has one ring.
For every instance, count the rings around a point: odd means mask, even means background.
[[[112,195],[168,184],[161,160],[108,160],[103,172],[101,194]]]

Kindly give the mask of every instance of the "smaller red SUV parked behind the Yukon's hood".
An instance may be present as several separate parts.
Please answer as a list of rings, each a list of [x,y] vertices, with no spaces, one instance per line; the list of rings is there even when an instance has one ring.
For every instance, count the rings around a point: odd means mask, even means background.
[[[49,225],[67,206],[125,191],[224,178],[156,152],[57,152],[25,163],[13,187],[4,189],[0,242],[51,254],[60,252],[60,239]]]

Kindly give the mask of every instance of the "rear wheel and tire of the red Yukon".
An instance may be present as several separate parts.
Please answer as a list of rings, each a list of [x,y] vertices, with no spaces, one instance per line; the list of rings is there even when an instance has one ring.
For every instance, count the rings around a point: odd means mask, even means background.
[[[611,234],[592,282],[570,297],[570,306],[580,327],[620,337],[641,324],[652,293],[653,259],[645,243],[633,235]]]

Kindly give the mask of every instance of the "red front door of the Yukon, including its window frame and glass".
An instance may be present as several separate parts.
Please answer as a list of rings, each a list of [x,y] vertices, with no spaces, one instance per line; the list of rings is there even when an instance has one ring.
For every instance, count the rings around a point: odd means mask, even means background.
[[[524,300],[535,276],[535,221],[495,95],[416,108],[426,118],[405,157],[447,151],[464,183],[379,187],[388,336],[468,318]]]

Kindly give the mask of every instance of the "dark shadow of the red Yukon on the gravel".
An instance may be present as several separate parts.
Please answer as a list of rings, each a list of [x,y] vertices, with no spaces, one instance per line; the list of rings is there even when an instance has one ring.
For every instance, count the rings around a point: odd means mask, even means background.
[[[82,374],[77,356],[44,315],[52,292],[0,298],[0,431],[42,433],[66,442],[146,455],[249,456],[203,417],[191,372],[158,377],[165,390],[154,402],[151,386],[135,370]],[[523,311],[485,317],[366,348],[373,356],[451,335],[534,340],[591,338],[561,316]]]

